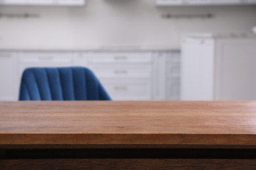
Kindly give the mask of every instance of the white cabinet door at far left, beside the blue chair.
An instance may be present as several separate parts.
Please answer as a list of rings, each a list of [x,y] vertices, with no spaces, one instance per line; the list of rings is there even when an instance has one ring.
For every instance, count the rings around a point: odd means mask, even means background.
[[[16,72],[16,54],[0,52],[0,100],[12,101],[18,99],[18,84]]]

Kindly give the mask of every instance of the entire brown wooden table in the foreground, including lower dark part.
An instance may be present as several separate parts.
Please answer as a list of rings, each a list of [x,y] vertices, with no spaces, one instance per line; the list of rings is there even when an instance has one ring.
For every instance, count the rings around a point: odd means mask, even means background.
[[[0,169],[256,169],[256,102],[0,102],[0,150]]]

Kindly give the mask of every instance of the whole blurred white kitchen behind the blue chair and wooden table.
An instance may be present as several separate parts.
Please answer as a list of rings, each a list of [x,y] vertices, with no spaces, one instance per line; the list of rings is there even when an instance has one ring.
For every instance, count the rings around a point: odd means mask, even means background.
[[[84,66],[114,100],[255,100],[254,0],[0,0],[0,100]]]

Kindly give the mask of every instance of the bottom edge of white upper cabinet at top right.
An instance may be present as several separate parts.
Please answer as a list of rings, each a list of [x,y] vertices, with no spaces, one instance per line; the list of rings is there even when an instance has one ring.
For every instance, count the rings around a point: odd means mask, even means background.
[[[256,0],[156,0],[158,6],[180,5],[256,5]]]

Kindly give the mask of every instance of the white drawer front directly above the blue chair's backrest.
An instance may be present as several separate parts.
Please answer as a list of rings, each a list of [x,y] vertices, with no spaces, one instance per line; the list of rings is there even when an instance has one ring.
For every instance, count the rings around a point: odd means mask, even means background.
[[[72,63],[71,53],[24,52],[20,54],[21,63]]]

